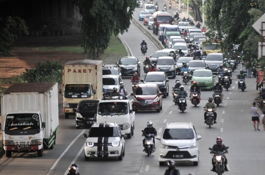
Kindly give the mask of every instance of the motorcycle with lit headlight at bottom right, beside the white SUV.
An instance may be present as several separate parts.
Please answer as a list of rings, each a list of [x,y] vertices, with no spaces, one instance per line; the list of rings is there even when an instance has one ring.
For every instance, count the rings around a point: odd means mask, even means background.
[[[228,149],[229,147],[226,147],[226,150]],[[225,170],[224,170],[224,161],[225,161],[225,151],[224,152],[219,152],[219,151],[214,151],[212,152],[212,148],[209,148],[209,150],[211,150],[210,153],[214,154],[214,158],[213,158],[213,161],[214,161],[214,165],[215,165],[215,173],[218,174],[218,175],[222,175]]]

